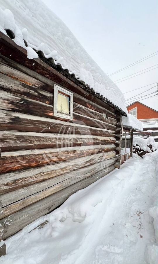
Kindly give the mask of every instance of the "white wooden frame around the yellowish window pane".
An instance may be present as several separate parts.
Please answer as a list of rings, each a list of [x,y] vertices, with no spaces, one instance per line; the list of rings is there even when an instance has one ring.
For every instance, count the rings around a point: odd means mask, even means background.
[[[58,97],[58,91],[68,95],[70,97],[70,114],[61,114],[57,111],[57,97]],[[54,116],[61,117],[64,119],[73,119],[73,93],[67,91],[66,89],[60,87],[57,84],[54,84]]]

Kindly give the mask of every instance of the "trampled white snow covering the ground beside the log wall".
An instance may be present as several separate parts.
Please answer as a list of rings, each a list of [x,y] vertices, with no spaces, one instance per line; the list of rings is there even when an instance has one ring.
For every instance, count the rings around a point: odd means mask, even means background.
[[[149,263],[147,246],[155,244],[149,215],[155,187],[153,155],[130,159],[121,170],[73,194],[54,212],[8,239],[7,255],[0,263]],[[46,219],[49,223],[42,229],[28,233]]]

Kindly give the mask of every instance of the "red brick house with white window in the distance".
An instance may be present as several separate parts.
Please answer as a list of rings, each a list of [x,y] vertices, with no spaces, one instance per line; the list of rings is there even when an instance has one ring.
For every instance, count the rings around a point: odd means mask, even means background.
[[[127,110],[142,122],[144,131],[158,129],[158,111],[138,101],[128,105]]]

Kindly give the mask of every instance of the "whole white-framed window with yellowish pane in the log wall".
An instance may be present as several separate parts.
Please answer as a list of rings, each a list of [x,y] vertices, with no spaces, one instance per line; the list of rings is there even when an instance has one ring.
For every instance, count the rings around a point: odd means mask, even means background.
[[[54,84],[54,116],[73,119],[73,93]]]

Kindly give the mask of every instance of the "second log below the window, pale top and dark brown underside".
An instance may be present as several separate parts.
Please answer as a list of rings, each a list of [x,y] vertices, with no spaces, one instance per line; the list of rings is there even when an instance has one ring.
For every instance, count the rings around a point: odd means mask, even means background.
[[[1,150],[61,148],[115,143],[114,137],[99,137],[73,134],[0,131]]]

